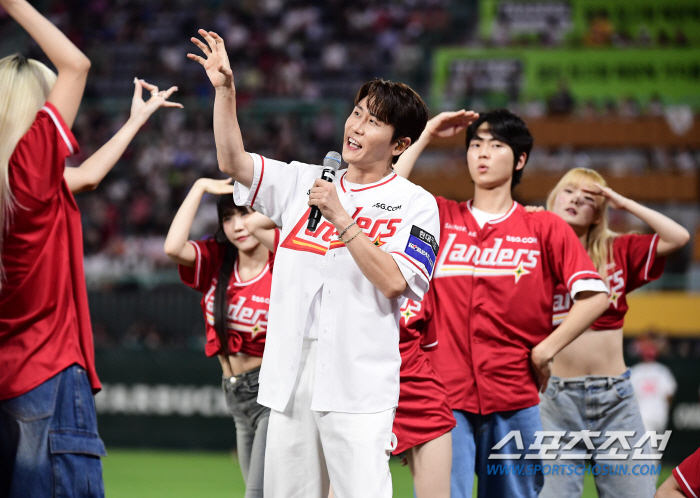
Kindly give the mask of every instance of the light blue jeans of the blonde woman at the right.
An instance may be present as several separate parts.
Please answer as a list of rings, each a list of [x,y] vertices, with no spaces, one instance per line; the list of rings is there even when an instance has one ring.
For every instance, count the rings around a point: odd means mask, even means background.
[[[655,475],[632,475],[634,465],[659,465],[659,461],[632,460],[634,444],[644,436],[644,424],[639,413],[639,405],[634,396],[634,389],[629,380],[629,370],[619,377],[588,376],[562,379],[551,377],[547,390],[542,394],[540,413],[542,425],[546,431],[564,431],[560,451],[556,460],[547,463],[554,466],[559,464],[571,466],[609,465],[615,467],[615,473],[600,472],[594,474],[595,485],[600,498],[651,498],[656,492]],[[583,440],[571,450],[563,450],[572,437],[569,431],[600,431],[600,436],[591,437],[594,449],[586,448]],[[625,449],[620,441],[615,441],[610,447],[602,449],[610,438],[606,431],[634,431],[633,437],[627,438],[631,449]],[[618,454],[629,455],[626,460],[606,460],[602,455],[617,449]],[[642,454],[650,453],[647,441],[642,448]],[[569,454],[566,459],[561,456]],[[590,459],[570,458],[570,454],[592,454]],[[627,474],[617,469],[627,465]],[[542,498],[580,498],[583,493],[583,475],[576,472],[554,472],[545,476]],[[571,475],[569,475],[571,474]]]

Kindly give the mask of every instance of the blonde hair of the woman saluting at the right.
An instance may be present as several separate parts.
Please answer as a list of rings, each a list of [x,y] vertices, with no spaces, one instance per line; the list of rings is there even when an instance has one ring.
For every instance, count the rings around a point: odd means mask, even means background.
[[[554,200],[565,187],[569,185],[580,187],[593,183],[598,183],[603,187],[608,186],[605,179],[600,176],[600,173],[597,171],[588,168],[574,168],[569,170],[549,193],[549,197],[547,197],[547,211],[552,210],[554,207]],[[612,251],[612,241],[618,234],[608,228],[608,201],[603,196],[597,196],[595,214],[596,221],[591,223],[591,226],[588,227],[586,251],[591,257],[598,273],[600,273],[600,276],[605,280],[608,276],[607,264],[610,252]]]

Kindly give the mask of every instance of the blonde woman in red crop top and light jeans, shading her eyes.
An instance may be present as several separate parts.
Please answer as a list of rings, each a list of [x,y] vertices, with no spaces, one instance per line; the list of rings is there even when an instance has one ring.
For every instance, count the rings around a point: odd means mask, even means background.
[[[617,234],[608,228],[608,206],[625,210],[646,223],[655,233],[650,235]],[[667,216],[627,199],[607,187],[603,177],[591,169],[576,168],[564,175],[547,199],[547,209],[561,216],[576,232],[610,288],[610,306],[591,327],[562,349],[552,362],[552,377],[541,395],[540,415],[544,430],[564,431],[562,447],[570,442],[570,433],[589,429],[594,448],[605,444],[608,431],[634,431],[628,438],[632,448],[644,436],[639,406],[630,383],[629,369],[622,352],[622,327],[627,312],[627,294],[659,278],[665,256],[683,247],[688,231]],[[572,300],[563,286],[555,289],[554,327],[566,317]],[[564,472],[545,478],[540,494],[544,498],[579,498],[583,476],[567,471],[577,464],[657,465],[627,459],[610,460],[605,455],[617,449],[620,454],[633,450],[619,447],[586,448],[583,441],[562,454],[591,453],[588,460],[552,461]],[[651,452],[647,442],[643,454]],[[629,461],[628,461],[629,460]],[[561,470],[560,469],[560,470]],[[617,470],[617,468],[615,468]],[[631,470],[631,469],[630,469]],[[598,496],[607,498],[652,496],[655,475],[632,475],[628,472],[601,472],[595,476]]]

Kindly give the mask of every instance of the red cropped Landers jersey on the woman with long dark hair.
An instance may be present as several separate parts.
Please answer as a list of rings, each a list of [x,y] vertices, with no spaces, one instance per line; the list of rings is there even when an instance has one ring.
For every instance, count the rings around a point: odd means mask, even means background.
[[[275,245],[279,231],[275,231]],[[197,252],[194,267],[179,265],[180,278],[203,294],[201,306],[206,322],[207,356],[224,354],[214,328],[214,294],[219,270],[224,261],[225,246],[213,239],[190,243]],[[274,254],[260,274],[241,281],[238,261],[233,266],[226,290],[228,299],[228,353],[244,353],[262,357],[267,333],[267,312],[270,308],[270,285]]]

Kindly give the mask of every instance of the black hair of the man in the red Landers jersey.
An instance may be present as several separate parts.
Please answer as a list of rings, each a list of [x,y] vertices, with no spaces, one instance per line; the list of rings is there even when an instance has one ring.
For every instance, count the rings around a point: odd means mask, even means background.
[[[525,164],[527,164],[528,159],[530,159],[530,151],[532,150],[534,139],[522,119],[507,109],[497,109],[481,113],[479,119],[469,125],[467,128],[467,148],[469,148],[469,143],[476,136],[479,126],[484,123],[489,124],[489,132],[493,138],[507,144],[513,151],[513,180],[510,184],[512,190],[520,183],[524,169],[516,171],[515,166],[517,166],[520,156],[523,154],[526,154]]]

